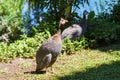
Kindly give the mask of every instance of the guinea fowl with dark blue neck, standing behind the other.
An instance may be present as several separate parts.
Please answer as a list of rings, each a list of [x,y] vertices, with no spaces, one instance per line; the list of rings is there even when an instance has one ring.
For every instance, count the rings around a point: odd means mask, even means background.
[[[84,10],[81,22],[72,24],[62,32],[62,40],[69,37],[71,41],[79,40],[81,35],[85,33],[87,28],[86,15],[88,11]]]

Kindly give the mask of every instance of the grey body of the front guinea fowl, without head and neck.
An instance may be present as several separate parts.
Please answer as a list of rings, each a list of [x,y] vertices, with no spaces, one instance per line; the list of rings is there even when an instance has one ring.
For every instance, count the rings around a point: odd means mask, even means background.
[[[61,39],[58,39],[58,37],[56,41],[55,37],[58,36],[54,35],[53,37],[46,40],[37,51],[37,69],[42,70],[45,67],[49,67],[53,62],[56,61],[57,56],[60,54],[62,50]]]

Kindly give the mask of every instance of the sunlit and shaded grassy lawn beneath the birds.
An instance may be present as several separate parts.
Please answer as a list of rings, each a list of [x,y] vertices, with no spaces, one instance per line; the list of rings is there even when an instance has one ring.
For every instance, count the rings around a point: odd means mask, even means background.
[[[26,69],[31,66],[21,64]],[[108,47],[87,49],[73,55],[60,55],[53,65],[55,73],[27,74],[8,73],[0,70],[0,74],[11,74],[8,80],[120,80],[120,44]]]

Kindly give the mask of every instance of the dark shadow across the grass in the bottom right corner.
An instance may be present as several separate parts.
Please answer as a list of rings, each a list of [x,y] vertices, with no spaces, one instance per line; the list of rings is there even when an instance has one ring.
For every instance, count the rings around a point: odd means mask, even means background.
[[[120,61],[103,64],[86,72],[73,72],[72,75],[59,77],[59,80],[120,80]]]

